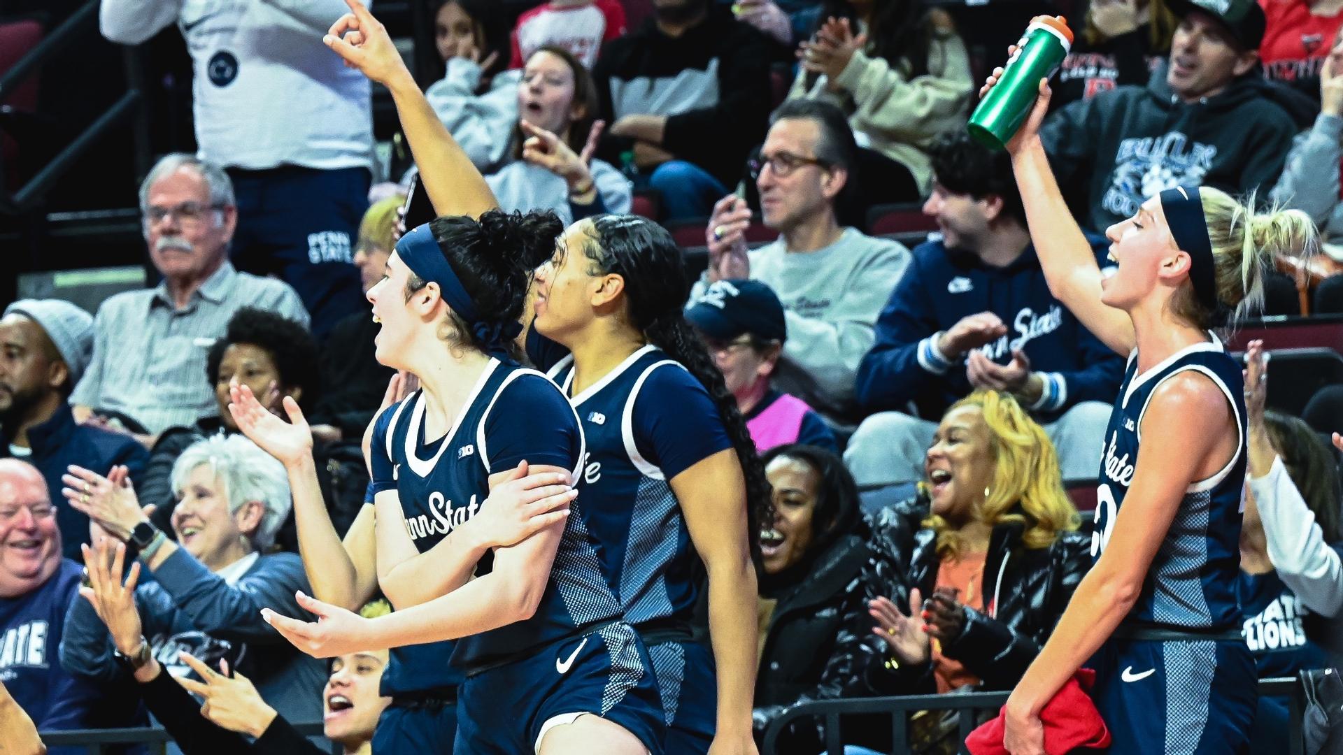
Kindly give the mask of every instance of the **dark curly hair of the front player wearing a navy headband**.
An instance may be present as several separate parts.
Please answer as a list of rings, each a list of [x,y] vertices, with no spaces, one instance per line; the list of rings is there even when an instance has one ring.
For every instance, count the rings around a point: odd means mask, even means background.
[[[486,324],[504,329],[522,317],[532,273],[555,253],[555,239],[564,224],[548,210],[525,214],[490,210],[479,220],[465,215],[438,218],[430,222],[430,230],[477,312]],[[411,273],[406,281],[407,300],[424,285],[423,278]],[[489,351],[489,344],[455,312],[449,313],[449,322],[451,329],[443,333],[445,340]],[[508,355],[521,361],[512,340]]]

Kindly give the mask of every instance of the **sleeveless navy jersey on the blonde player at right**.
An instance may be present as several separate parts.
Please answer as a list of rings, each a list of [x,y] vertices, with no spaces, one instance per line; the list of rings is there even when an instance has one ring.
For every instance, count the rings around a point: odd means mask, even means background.
[[[1245,398],[1241,367],[1222,344],[1201,343],[1138,373],[1136,351],[1128,359],[1101,459],[1092,556],[1109,543],[1115,517],[1133,480],[1143,414],[1158,386],[1185,371],[1205,375],[1232,404],[1240,445],[1213,477],[1189,486],[1128,621],[1175,629],[1229,630],[1240,626],[1236,599],[1240,580],[1241,490],[1245,481]]]

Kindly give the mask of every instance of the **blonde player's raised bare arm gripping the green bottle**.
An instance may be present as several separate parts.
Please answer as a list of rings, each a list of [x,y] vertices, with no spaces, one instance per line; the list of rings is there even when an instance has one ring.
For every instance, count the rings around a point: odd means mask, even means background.
[[[999,75],[1002,69],[995,69],[980,95],[997,83]],[[1123,312],[1101,304],[1100,265],[1081,227],[1068,210],[1058,181],[1054,180],[1054,172],[1049,167],[1044,142],[1039,140],[1039,125],[1049,112],[1049,85],[1042,79],[1035,107],[1007,144],[1017,187],[1026,207],[1030,240],[1045,271],[1049,293],[1101,343],[1127,356],[1135,344],[1133,324]]]

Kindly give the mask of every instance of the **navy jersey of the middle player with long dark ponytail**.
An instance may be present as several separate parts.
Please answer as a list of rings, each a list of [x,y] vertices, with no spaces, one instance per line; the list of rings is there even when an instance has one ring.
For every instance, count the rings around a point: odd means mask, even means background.
[[[573,361],[549,375],[572,394]],[[624,619],[689,618],[697,556],[669,481],[732,442],[704,386],[655,347],[569,398],[587,438],[579,500]]]

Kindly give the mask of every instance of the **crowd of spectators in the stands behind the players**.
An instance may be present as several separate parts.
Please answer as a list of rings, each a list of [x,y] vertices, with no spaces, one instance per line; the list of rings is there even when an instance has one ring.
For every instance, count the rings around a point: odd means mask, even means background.
[[[642,211],[698,236],[686,317],[774,490],[757,736],[808,700],[1011,689],[1091,567],[1070,493],[1095,481],[1124,363],[1050,292],[1010,160],[964,128],[984,52],[925,0],[639,7],[549,0],[510,27],[493,0],[432,3],[424,103],[504,210]],[[16,703],[38,731],[154,720],[188,755],[309,751],[290,723],[316,720],[368,751],[387,652],[325,666],[262,621],[305,615],[309,575],[286,472],[228,411],[231,384],[304,408],[344,535],[392,378],[361,290],[418,172],[375,160],[369,83],[321,44],[344,12],[101,3],[115,42],[181,28],[200,150],[141,183],[161,282],[0,317],[0,738]],[[1343,3],[1080,17],[1041,136],[1099,265],[1146,197],[1206,184],[1316,222],[1324,261],[1292,269],[1304,306],[1285,313],[1323,306],[1315,286],[1343,283],[1312,277],[1343,269]],[[890,203],[936,231],[874,232]],[[1338,666],[1343,388],[1303,420],[1266,406],[1266,349],[1246,359],[1244,637],[1265,678]],[[913,747],[954,752],[959,715],[917,716]],[[1256,752],[1289,715],[1261,701]],[[854,751],[890,751],[885,719],[855,721]],[[822,742],[795,719],[778,752]]]

